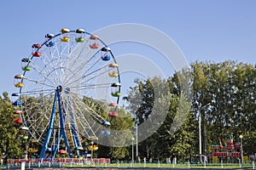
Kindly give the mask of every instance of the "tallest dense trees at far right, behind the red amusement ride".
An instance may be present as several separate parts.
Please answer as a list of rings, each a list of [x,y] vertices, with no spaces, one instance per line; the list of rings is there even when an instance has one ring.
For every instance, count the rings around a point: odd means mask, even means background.
[[[245,136],[245,151],[255,152],[247,148],[255,144],[255,66],[235,61],[192,64],[193,110],[196,116],[201,111],[203,154],[210,153],[218,137],[227,139],[229,133],[233,139]]]

